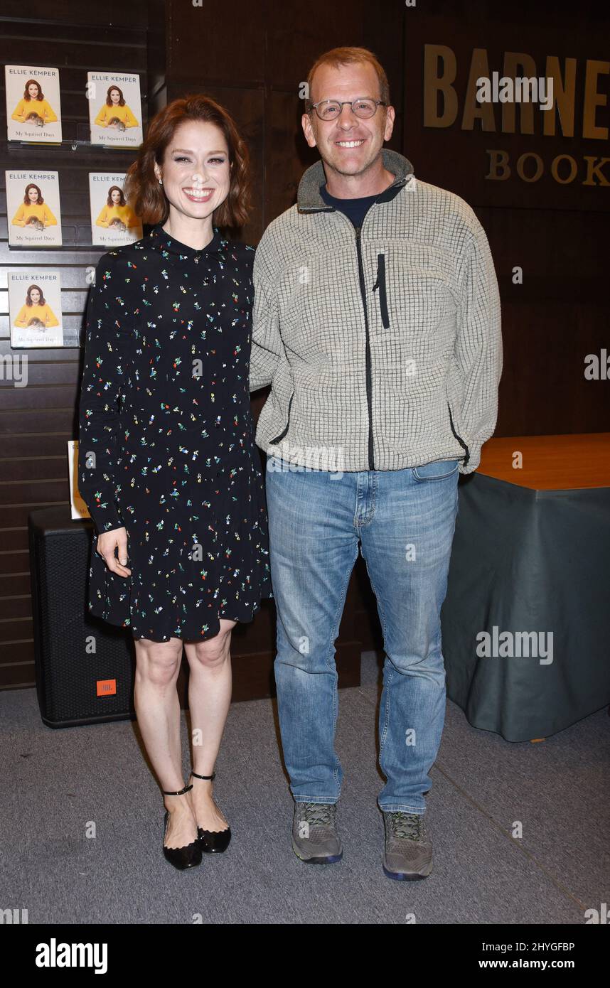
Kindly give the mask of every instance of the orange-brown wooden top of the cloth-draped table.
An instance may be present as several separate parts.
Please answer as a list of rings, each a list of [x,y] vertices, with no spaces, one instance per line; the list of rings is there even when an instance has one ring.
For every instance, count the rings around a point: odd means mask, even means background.
[[[610,433],[504,436],[480,451],[479,473],[533,490],[610,487]],[[522,453],[522,467],[515,453]]]

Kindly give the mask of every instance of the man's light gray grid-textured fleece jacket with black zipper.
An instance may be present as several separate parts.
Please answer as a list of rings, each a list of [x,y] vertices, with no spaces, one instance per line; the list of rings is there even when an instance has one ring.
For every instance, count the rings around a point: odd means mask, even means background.
[[[254,258],[256,443],[318,469],[479,466],[502,371],[489,245],[463,199],[387,148],[393,184],[362,227],[326,206],[321,161]]]

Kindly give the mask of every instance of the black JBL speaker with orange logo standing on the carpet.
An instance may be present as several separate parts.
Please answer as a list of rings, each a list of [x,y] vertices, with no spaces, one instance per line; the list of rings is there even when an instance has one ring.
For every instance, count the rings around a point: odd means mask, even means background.
[[[36,686],[48,727],[133,719],[131,631],[90,617],[87,580],[93,537],[69,505],[28,519]]]

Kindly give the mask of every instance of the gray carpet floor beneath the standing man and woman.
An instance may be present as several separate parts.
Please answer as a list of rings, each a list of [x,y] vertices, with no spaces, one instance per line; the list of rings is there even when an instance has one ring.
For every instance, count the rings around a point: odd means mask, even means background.
[[[337,724],[344,856],[325,866],[291,849],[294,803],[273,700],[231,706],[215,796],[233,839],[224,855],[179,872],[161,853],[162,797],[137,725],[52,730],[34,690],[0,693],[2,908],[28,909],[31,924],[583,924],[585,910],[609,902],[605,710],[542,743],[515,744],[448,702],[427,796],[433,873],[387,878],[376,804],[380,666],[373,653],[362,661],[362,686],[341,691]],[[183,714],[185,779],[187,741]]]

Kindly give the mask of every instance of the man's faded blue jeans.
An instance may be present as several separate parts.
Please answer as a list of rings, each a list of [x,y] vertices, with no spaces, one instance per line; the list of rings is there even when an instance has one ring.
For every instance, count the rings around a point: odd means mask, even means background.
[[[366,560],[384,633],[379,718],[383,810],[425,811],[445,720],[441,605],[458,510],[458,460],[339,473],[267,457],[275,678],[282,746],[297,802],[334,803],[334,642],[349,579]],[[289,468],[290,467],[290,468]]]

